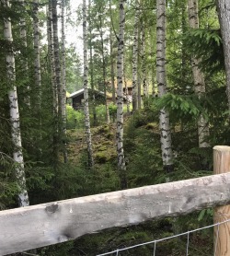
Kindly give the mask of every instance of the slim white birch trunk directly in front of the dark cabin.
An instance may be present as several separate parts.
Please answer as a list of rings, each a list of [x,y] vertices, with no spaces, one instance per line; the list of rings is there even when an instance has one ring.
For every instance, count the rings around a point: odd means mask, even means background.
[[[88,108],[88,61],[87,61],[87,23],[86,23],[86,0],[83,0],[83,51],[84,51],[84,113],[86,126],[86,144],[88,154],[88,166],[94,166],[93,147],[90,130],[89,108]]]

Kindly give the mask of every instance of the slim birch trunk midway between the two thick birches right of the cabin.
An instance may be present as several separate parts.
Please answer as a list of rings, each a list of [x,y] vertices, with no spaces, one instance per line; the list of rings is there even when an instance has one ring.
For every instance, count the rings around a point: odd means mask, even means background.
[[[137,110],[137,60],[138,60],[138,24],[139,0],[135,1],[136,11],[134,17],[133,46],[132,46],[132,111]]]

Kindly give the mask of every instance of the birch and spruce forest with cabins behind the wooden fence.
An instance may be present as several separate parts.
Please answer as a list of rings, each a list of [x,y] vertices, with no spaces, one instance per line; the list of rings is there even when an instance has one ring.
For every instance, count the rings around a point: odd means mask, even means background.
[[[213,146],[230,145],[228,0],[0,0],[0,19],[0,211],[213,174]],[[97,255],[212,223],[204,209],[14,255]],[[190,244],[212,255],[213,229]]]

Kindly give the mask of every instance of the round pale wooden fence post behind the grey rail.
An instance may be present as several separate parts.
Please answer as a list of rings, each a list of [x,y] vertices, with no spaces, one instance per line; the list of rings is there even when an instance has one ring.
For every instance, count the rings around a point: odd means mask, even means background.
[[[213,147],[213,172],[214,174],[230,172],[230,146]],[[214,224],[227,219],[230,219],[230,204],[214,208]],[[214,227],[213,250],[214,256],[230,256],[230,222]]]

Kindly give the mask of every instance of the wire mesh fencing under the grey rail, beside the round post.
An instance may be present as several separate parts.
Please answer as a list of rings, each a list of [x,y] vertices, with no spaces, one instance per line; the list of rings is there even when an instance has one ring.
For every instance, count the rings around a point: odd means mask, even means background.
[[[210,226],[196,228],[196,229],[193,229],[193,230],[190,230],[190,231],[187,231],[187,232],[184,232],[184,233],[180,233],[180,234],[177,234],[177,235],[174,235],[174,236],[170,236],[170,237],[167,237],[167,238],[164,238],[164,239],[155,239],[155,240],[152,240],[152,241],[148,241],[148,242],[132,245],[132,246],[129,246],[129,247],[126,247],[126,248],[121,248],[121,249],[117,249],[117,250],[111,250],[109,252],[98,254],[97,256],[104,256],[104,255],[114,255],[114,256],[116,255],[116,256],[119,256],[121,251],[132,250],[132,249],[135,249],[135,248],[138,248],[138,247],[142,247],[142,246],[145,246],[145,245],[150,245],[150,244],[154,245],[153,255],[156,256],[156,252],[155,251],[156,251],[156,244],[158,242],[166,241],[168,239],[175,239],[175,238],[182,237],[182,236],[187,236],[186,254],[185,255],[189,256],[190,234],[198,232],[198,231],[201,231],[201,230],[204,230],[204,229],[208,229],[208,228],[211,228],[211,227],[217,227],[216,239],[215,239],[215,244],[214,244],[214,247],[213,247],[213,250],[214,250],[213,251],[213,255],[215,256],[216,255],[216,250],[217,250],[217,241],[218,241],[218,237],[219,237],[219,227],[220,227],[220,225],[225,224],[227,222],[230,222],[230,219],[224,220],[223,222],[215,223],[215,224],[210,225]]]

